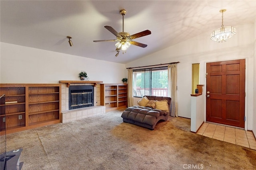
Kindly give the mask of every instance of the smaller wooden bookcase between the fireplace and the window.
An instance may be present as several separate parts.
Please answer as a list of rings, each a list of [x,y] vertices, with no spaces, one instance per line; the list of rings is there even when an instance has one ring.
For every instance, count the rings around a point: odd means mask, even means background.
[[[127,84],[100,84],[100,105],[106,112],[127,107]]]

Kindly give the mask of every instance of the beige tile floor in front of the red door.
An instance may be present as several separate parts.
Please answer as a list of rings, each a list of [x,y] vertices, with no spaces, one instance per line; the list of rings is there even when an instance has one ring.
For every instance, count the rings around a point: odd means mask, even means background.
[[[256,150],[256,140],[251,131],[203,123],[197,134]]]

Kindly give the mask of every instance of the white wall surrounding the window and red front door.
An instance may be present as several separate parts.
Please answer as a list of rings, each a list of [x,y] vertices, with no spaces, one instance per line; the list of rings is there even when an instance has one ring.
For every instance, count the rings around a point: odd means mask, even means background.
[[[180,61],[177,64],[178,116],[190,118],[192,63],[200,63],[200,84],[205,84],[204,67],[206,62],[246,59],[248,63],[246,66],[246,94],[248,94],[246,96],[246,115],[248,113],[246,127],[248,125],[248,129],[252,130],[253,103],[256,102],[255,98],[253,99],[252,93],[254,79],[253,67],[255,67],[253,63],[255,38],[252,36],[254,34],[254,24],[232,26],[237,28],[237,35],[234,35],[227,42],[217,43],[210,40],[210,32],[208,32],[128,63],[126,67]]]

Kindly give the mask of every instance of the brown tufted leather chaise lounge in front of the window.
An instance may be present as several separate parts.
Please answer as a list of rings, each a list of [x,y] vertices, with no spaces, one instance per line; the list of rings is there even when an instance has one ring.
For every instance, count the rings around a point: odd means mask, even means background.
[[[146,96],[146,98],[148,98],[148,100],[154,100],[157,102],[167,100],[168,111],[153,109],[152,107],[132,106],[126,108],[125,111],[122,113],[121,117],[123,118],[123,121],[126,123],[132,123],[134,125],[154,130],[156,123],[158,123],[158,121],[167,121],[171,110],[171,98],[161,96]]]

